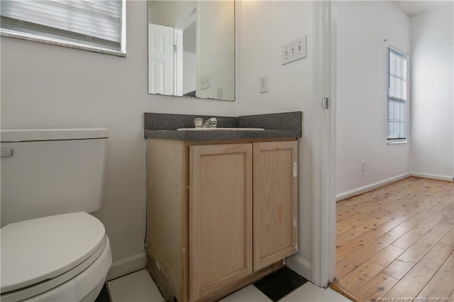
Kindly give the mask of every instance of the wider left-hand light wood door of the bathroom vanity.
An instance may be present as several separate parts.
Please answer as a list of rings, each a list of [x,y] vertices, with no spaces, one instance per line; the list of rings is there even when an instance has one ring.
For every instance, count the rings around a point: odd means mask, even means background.
[[[252,144],[190,148],[189,296],[253,272]]]

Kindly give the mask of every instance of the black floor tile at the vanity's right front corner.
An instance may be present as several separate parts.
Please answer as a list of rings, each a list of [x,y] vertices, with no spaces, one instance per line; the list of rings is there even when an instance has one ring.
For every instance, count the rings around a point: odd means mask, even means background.
[[[254,286],[276,302],[306,282],[306,278],[292,271],[292,269],[282,267],[282,269],[278,269],[255,282]]]

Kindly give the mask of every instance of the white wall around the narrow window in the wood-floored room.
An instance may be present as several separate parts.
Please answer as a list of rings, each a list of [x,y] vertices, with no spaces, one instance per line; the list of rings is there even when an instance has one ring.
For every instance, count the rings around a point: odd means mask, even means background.
[[[387,145],[386,120],[387,43],[409,52],[410,32],[409,17],[389,1],[336,1],[334,7],[336,193],[342,194],[409,172],[409,143]]]

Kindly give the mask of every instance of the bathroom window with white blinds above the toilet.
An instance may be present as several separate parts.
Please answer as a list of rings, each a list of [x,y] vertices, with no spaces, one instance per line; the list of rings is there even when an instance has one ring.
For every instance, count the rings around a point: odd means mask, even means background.
[[[1,0],[1,35],[124,56],[123,0]]]

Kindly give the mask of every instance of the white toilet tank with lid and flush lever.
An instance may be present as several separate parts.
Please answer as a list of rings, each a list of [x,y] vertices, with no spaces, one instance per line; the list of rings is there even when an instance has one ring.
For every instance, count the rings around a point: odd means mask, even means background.
[[[1,226],[98,211],[107,129],[1,130]]]

